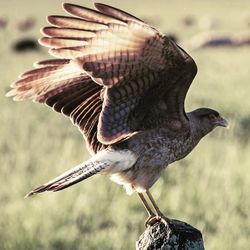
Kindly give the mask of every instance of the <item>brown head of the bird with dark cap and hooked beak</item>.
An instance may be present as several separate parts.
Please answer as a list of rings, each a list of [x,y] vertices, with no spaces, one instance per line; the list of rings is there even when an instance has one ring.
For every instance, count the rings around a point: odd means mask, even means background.
[[[196,129],[198,129],[203,136],[218,126],[228,127],[227,120],[221,117],[217,111],[210,108],[196,109],[190,112],[188,117],[191,118],[191,121],[194,121]]]

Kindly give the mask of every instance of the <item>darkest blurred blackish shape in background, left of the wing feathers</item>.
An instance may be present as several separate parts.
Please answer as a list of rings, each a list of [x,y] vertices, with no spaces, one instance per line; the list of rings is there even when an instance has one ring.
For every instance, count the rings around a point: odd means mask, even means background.
[[[12,45],[14,52],[27,52],[40,50],[40,46],[36,39],[33,38],[22,38],[14,42]]]

